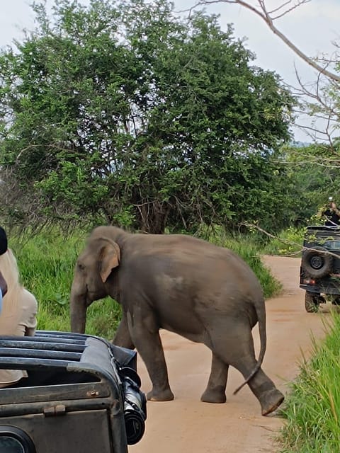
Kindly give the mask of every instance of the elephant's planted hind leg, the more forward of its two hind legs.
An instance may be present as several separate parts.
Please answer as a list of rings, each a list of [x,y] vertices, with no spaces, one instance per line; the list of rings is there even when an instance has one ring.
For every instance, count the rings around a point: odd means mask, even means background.
[[[217,355],[212,352],[211,372],[208,381],[208,386],[200,401],[205,403],[225,403],[225,387],[227,385],[229,365],[222,362]]]

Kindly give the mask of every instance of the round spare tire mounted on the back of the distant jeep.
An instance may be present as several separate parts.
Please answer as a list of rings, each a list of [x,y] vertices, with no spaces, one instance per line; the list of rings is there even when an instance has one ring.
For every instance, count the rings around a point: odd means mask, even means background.
[[[302,254],[302,269],[313,278],[322,278],[331,273],[333,256],[324,247],[315,246]]]

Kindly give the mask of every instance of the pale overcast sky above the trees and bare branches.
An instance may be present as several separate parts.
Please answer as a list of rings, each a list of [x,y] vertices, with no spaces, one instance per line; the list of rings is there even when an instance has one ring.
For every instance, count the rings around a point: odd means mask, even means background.
[[[87,4],[86,0],[84,4]],[[256,4],[256,0],[251,0]],[[283,4],[283,0],[267,0],[269,8]],[[47,0],[47,4],[52,4]],[[196,3],[195,0],[174,0],[176,10],[183,11]],[[295,1],[293,1],[295,3]],[[13,39],[23,38],[21,30],[32,29],[33,13],[27,0],[1,1],[0,47],[11,45]],[[314,71],[297,57],[277,38],[267,25],[242,6],[235,4],[212,4],[207,6],[210,13],[220,14],[222,28],[227,23],[234,24],[234,35],[246,38],[246,47],[256,54],[256,64],[263,69],[276,71],[282,79],[296,85],[295,67],[302,80],[311,82],[315,79]],[[331,55],[335,47],[331,42],[340,43],[340,0],[310,0],[276,22],[297,47],[310,57],[321,53]],[[306,123],[307,124],[307,123]],[[295,139],[305,141],[304,132],[294,129]]]

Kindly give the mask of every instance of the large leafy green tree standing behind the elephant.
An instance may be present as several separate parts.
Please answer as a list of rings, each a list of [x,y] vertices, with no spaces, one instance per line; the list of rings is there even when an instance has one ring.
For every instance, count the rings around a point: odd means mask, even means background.
[[[293,100],[222,31],[166,0],[57,0],[0,55],[3,214],[150,232],[288,222]]]

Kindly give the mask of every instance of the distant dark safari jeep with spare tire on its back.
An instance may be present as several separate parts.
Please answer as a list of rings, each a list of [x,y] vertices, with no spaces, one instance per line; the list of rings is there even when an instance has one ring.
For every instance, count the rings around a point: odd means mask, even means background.
[[[340,304],[340,228],[308,226],[303,242],[300,288],[305,309],[318,311],[327,301]]]

